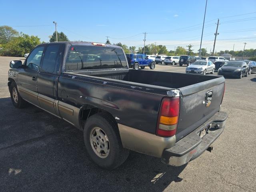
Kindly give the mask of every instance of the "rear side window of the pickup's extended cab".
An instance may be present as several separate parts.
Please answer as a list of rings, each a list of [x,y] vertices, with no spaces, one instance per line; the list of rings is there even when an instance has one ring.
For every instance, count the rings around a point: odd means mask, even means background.
[[[57,64],[60,45],[49,45],[42,61],[41,71],[53,73]]]

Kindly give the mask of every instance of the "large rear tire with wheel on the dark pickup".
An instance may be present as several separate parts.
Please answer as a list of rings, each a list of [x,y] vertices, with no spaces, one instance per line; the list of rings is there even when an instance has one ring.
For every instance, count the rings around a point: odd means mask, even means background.
[[[96,143],[93,140],[100,142]],[[94,114],[88,118],[84,125],[84,143],[90,159],[104,169],[117,168],[129,155],[129,150],[122,146],[115,120],[106,113]],[[98,146],[102,148],[100,153],[96,150]],[[104,148],[107,153],[104,152]]]

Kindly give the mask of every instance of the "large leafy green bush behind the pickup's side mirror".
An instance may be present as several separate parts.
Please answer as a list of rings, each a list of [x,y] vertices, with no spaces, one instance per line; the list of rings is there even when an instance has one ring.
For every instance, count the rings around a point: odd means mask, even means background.
[[[13,37],[10,42],[2,45],[1,54],[3,56],[24,56],[40,44],[38,36],[29,36],[27,34],[20,34],[18,37]]]

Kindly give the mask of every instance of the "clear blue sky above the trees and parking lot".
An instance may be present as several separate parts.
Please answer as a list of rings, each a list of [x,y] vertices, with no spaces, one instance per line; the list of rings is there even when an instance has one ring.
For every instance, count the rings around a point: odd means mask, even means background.
[[[167,1],[3,1],[0,25],[36,35],[48,42],[58,23],[58,32],[69,40],[146,44],[194,45],[199,49],[206,0]],[[250,14],[248,14],[250,13]],[[236,16],[238,15],[238,16]],[[213,48],[216,22],[220,18],[216,50],[256,48],[256,0],[208,0],[202,48]],[[44,26],[46,25],[46,26]]]

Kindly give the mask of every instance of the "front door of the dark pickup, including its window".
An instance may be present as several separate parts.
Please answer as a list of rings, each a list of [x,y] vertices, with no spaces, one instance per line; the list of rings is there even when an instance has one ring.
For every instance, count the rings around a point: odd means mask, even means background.
[[[18,73],[18,90],[20,96],[32,104],[39,106],[37,93],[37,78],[44,46],[32,50],[24,63],[24,68]]]

